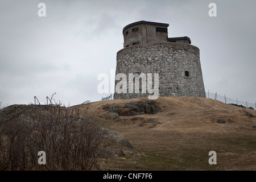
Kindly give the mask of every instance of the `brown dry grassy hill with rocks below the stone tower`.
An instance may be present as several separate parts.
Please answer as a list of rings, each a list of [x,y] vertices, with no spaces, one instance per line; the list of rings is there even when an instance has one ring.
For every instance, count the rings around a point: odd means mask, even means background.
[[[159,97],[154,100],[157,112],[134,110],[146,100],[72,106],[97,117],[100,126],[119,131],[138,151],[137,155],[120,151],[118,156],[105,159],[101,169],[256,169],[255,110],[199,97]],[[208,163],[209,151],[216,151],[216,165]]]

